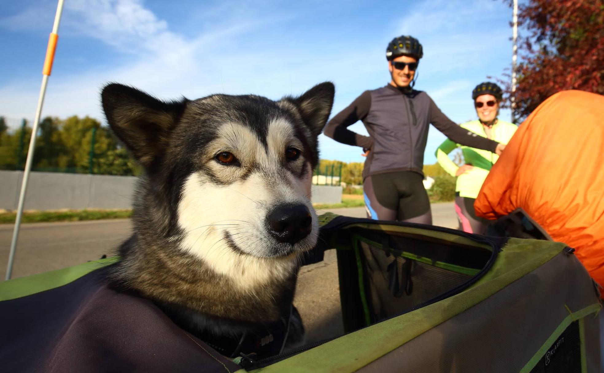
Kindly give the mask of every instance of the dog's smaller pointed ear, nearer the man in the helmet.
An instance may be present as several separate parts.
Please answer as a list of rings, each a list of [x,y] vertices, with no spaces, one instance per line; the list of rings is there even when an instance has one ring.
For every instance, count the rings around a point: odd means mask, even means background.
[[[314,136],[319,136],[332,112],[335,87],[330,81],[316,84],[313,88],[294,99],[302,120]]]

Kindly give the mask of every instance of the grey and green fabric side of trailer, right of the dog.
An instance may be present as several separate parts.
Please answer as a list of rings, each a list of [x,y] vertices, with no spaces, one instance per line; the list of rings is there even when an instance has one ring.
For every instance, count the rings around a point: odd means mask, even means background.
[[[331,243],[347,250],[341,236],[347,235],[347,229],[358,235],[358,228],[487,249],[473,240],[480,236],[384,222],[340,223],[339,237],[330,237]],[[560,325],[568,320],[577,321],[583,336],[577,355],[580,371],[599,372],[597,290],[571,251],[562,243],[510,238],[489,271],[463,292],[254,372],[526,371],[541,368],[538,363],[551,352],[551,343],[555,345],[566,330]],[[566,371],[564,366],[561,369]]]

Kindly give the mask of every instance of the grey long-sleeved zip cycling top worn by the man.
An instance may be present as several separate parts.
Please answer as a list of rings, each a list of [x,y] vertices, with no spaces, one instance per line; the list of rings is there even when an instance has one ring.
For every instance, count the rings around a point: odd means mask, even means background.
[[[359,120],[370,136],[347,129]],[[429,124],[458,144],[493,152],[498,144],[457,126],[426,92],[402,92],[390,84],[363,92],[327,123],[324,133],[343,144],[371,149],[363,178],[394,171],[416,171],[423,175]]]

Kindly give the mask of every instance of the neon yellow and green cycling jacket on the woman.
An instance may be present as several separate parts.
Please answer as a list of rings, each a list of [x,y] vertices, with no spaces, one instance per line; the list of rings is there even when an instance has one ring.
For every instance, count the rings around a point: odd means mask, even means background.
[[[484,132],[483,124],[478,120],[462,123],[460,124],[460,127],[463,127],[464,129],[467,129],[478,136],[487,136]],[[516,129],[518,129],[518,126],[515,124],[498,120],[496,124],[493,124],[491,130],[493,140],[507,145],[513,134],[516,132]],[[442,168],[444,168],[445,171],[451,176],[455,176],[455,173],[459,167],[453,161],[451,161],[448,154],[457,147],[461,147],[464,162],[466,164],[471,164],[474,166],[474,168],[457,177],[455,191],[458,192],[461,197],[475,199],[478,197],[478,192],[480,192],[480,188],[483,185],[484,179],[486,179],[487,175],[489,174],[490,168],[493,166],[493,164],[495,164],[499,156],[491,151],[455,144],[455,142],[446,139],[437,148],[436,159]]]

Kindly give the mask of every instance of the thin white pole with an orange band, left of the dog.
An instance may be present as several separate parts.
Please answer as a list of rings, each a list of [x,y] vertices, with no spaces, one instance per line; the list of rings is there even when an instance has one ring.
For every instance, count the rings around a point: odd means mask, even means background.
[[[10,279],[13,272],[14,253],[17,249],[17,240],[19,238],[19,228],[21,226],[21,217],[23,215],[23,206],[25,204],[25,191],[27,191],[27,182],[30,178],[31,161],[34,157],[34,146],[36,145],[36,133],[38,123],[40,123],[40,114],[42,114],[42,105],[44,103],[44,95],[46,94],[46,86],[48,83],[48,77],[53,69],[54,51],[57,48],[57,40],[59,39],[59,23],[61,21],[61,14],[63,13],[63,1],[59,0],[57,4],[57,13],[54,16],[53,32],[50,33],[48,39],[48,48],[46,49],[46,59],[44,60],[44,67],[42,69],[42,87],[40,88],[40,96],[38,98],[38,104],[36,109],[36,118],[34,119],[33,127],[31,129],[30,147],[27,151],[27,160],[25,161],[25,169],[23,171],[23,182],[21,183],[21,194],[19,194],[19,205],[17,207],[17,217],[14,220],[14,231],[13,241],[10,244],[10,253],[8,254],[8,266],[6,269],[6,279]]]

